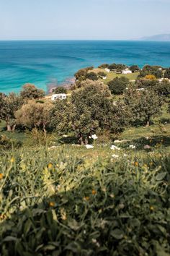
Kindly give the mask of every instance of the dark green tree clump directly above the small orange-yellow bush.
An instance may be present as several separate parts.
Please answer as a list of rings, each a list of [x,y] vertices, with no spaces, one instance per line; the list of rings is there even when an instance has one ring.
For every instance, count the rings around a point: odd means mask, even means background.
[[[163,71],[159,66],[146,65],[140,70],[140,77],[146,77],[148,74],[153,74],[156,78],[163,77]]]

